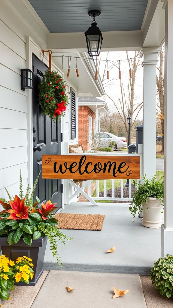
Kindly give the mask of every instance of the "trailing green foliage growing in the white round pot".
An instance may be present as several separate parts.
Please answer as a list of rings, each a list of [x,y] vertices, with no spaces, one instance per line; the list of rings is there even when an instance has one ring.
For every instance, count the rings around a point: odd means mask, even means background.
[[[129,207],[133,220],[137,213],[143,211],[142,203],[147,203],[149,198],[158,198],[163,205],[163,176],[157,179],[155,175],[152,179],[146,179],[145,175],[143,176],[143,184],[139,183],[136,187],[137,190]]]

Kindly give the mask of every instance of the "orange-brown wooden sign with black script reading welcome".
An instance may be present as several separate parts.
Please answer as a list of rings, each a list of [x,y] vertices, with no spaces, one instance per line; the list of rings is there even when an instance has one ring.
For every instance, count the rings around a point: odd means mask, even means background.
[[[43,179],[140,179],[140,156],[42,155]]]

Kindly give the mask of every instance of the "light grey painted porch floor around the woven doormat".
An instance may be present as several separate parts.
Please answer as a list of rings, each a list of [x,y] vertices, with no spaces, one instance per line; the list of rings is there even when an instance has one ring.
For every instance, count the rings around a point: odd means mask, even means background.
[[[126,203],[76,202],[65,205],[61,213],[103,214],[105,215],[101,231],[62,230],[62,233],[74,237],[66,241],[66,248],[59,242],[58,253],[64,270],[128,273],[149,275],[154,261],[161,256],[161,228],[150,229],[142,225],[142,218],[132,215]],[[114,253],[105,250],[115,246]],[[44,270],[60,270],[46,247]]]

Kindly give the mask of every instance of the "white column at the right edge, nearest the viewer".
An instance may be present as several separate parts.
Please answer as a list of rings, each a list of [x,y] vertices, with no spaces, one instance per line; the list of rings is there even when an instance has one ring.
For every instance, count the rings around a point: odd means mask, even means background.
[[[165,81],[164,81],[164,224],[162,257],[173,254],[173,1],[165,1]]]

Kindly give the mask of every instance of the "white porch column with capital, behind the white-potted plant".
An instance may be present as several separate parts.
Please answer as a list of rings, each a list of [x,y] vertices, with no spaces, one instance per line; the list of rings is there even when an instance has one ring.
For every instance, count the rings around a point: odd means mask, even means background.
[[[142,48],[143,56],[143,175],[156,174],[156,65],[160,48]]]

